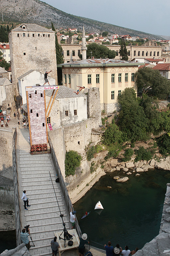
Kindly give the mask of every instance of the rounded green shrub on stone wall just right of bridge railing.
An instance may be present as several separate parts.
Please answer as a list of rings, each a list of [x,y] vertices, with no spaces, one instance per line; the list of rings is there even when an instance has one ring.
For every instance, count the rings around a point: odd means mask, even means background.
[[[80,166],[82,157],[77,151],[70,150],[65,154],[65,175],[74,175],[77,167]]]

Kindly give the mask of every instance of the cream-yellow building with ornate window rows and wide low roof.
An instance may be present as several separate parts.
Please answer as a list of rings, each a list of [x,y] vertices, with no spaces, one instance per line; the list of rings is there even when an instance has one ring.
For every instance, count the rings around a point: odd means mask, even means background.
[[[112,113],[117,110],[117,97],[125,88],[133,87],[137,91],[134,74],[140,65],[144,63],[86,59],[60,64],[57,67],[62,67],[63,85],[74,90],[79,89],[77,86],[99,88],[101,109]]]

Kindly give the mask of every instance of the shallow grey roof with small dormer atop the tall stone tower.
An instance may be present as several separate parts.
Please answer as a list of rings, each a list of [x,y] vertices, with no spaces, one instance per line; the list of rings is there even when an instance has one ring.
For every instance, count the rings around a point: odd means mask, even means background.
[[[22,25],[25,25],[26,28],[23,29]],[[26,32],[46,32],[46,33],[55,33],[55,31],[48,29],[48,28],[44,28],[40,25],[37,24],[30,24],[30,23],[23,23],[21,24],[19,27],[17,28],[13,28],[11,31],[26,31]]]

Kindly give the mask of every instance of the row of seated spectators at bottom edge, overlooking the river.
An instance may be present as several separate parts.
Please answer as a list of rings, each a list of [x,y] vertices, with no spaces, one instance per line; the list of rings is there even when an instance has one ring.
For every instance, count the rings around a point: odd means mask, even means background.
[[[136,247],[135,250],[130,251],[128,248],[128,245],[125,246],[125,250],[122,250],[122,247],[120,247],[119,244],[116,245],[115,248],[111,245],[111,242],[108,242],[108,245],[104,245],[104,248],[106,250],[106,256],[129,256],[130,254],[135,254],[139,249]]]

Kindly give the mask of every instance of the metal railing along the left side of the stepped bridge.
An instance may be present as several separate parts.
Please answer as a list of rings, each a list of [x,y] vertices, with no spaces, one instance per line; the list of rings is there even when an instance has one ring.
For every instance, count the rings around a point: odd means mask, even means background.
[[[20,197],[19,197],[19,185],[18,185],[18,169],[17,169],[17,155],[16,155],[16,143],[17,143],[17,129],[15,129],[12,141],[12,161],[13,161],[13,175],[14,175],[14,200],[15,200],[15,219],[16,219],[16,240],[17,246],[21,242],[21,209],[20,209]]]

